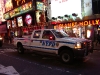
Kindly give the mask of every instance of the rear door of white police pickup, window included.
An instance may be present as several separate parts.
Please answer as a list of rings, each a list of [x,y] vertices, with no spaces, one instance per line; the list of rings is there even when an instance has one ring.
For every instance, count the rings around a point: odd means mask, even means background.
[[[40,35],[41,35],[41,30],[36,30],[33,34],[33,36],[31,36],[31,49],[34,50],[40,50]]]

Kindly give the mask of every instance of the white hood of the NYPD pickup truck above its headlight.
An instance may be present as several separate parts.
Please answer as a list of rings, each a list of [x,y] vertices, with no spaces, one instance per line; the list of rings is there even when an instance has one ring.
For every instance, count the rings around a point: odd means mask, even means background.
[[[75,38],[75,37],[65,37],[65,38],[61,38],[61,39],[59,39],[59,40],[62,40],[62,41],[70,41],[70,42],[89,41],[88,39]]]

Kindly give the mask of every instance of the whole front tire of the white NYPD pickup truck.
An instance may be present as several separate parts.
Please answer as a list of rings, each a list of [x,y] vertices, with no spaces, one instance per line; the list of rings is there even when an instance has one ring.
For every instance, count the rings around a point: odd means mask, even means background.
[[[71,63],[73,58],[73,53],[71,51],[64,50],[60,53],[60,59],[63,63]]]

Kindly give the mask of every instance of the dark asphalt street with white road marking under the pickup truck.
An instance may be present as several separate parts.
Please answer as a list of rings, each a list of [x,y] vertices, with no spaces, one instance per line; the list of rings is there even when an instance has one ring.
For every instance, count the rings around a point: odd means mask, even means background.
[[[4,43],[0,48],[0,75],[100,75],[100,49],[97,47],[85,59],[63,64],[54,56],[28,51],[20,55],[13,44]]]

